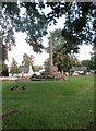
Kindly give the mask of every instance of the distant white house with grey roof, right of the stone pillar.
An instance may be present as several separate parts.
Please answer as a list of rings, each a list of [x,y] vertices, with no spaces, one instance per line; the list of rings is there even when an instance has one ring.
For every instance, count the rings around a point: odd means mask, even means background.
[[[87,72],[86,67],[72,67],[70,73],[73,75],[85,74]]]

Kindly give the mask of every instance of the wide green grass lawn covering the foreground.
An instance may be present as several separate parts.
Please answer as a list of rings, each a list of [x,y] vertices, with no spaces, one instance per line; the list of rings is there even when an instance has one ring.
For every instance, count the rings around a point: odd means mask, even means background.
[[[10,91],[25,85],[26,91]],[[69,81],[3,81],[3,129],[81,129],[94,121],[94,76]]]

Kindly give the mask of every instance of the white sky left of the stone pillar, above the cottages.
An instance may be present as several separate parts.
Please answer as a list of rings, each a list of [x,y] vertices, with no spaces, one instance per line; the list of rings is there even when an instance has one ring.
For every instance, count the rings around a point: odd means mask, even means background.
[[[33,55],[35,57],[35,63],[34,64],[43,64],[45,60],[48,58],[49,55],[47,55],[45,51],[43,53],[36,53],[33,51],[32,46],[29,46],[25,41],[25,34],[23,33],[15,33],[15,43],[16,46],[13,47],[12,51],[9,52],[9,61],[8,66],[10,67],[10,63],[12,61],[12,58],[14,58],[19,64],[22,63],[23,55],[27,53],[28,56]],[[47,39],[44,38],[44,43],[47,44]]]

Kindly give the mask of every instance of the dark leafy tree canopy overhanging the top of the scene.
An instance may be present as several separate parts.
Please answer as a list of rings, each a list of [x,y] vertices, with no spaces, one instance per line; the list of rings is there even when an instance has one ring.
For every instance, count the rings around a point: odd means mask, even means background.
[[[48,26],[57,24],[57,19],[64,15],[61,33],[67,41],[64,47],[74,47],[74,51],[82,44],[96,47],[95,8],[94,2],[2,2],[2,37],[9,47],[14,45],[14,31],[25,32],[26,41],[33,46],[34,51],[39,52],[44,48],[41,37],[47,35]]]

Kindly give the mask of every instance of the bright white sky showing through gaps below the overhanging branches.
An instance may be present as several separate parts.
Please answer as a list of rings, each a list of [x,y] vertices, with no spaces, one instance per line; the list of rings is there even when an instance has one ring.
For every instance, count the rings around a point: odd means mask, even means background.
[[[63,23],[64,23],[64,16],[62,19],[58,20],[57,25],[52,25],[48,28],[48,32],[53,31],[55,28],[62,28],[63,27]],[[35,63],[34,64],[39,64],[41,66],[45,60],[49,57],[48,53],[46,53],[45,51],[43,53],[35,53],[33,51],[33,48],[26,44],[25,41],[25,37],[26,34],[24,33],[15,33],[15,43],[16,43],[16,47],[13,47],[12,51],[9,52],[9,61],[7,62],[8,66],[10,67],[11,60],[12,58],[14,58],[19,64],[21,64],[22,60],[23,60],[23,55],[27,53],[27,55],[33,55],[35,57]],[[44,37],[44,43],[45,46],[48,45],[48,40],[47,37]],[[92,46],[81,46],[80,49],[80,53],[76,55],[79,56],[79,60],[86,60],[91,58],[89,52],[92,51]]]

